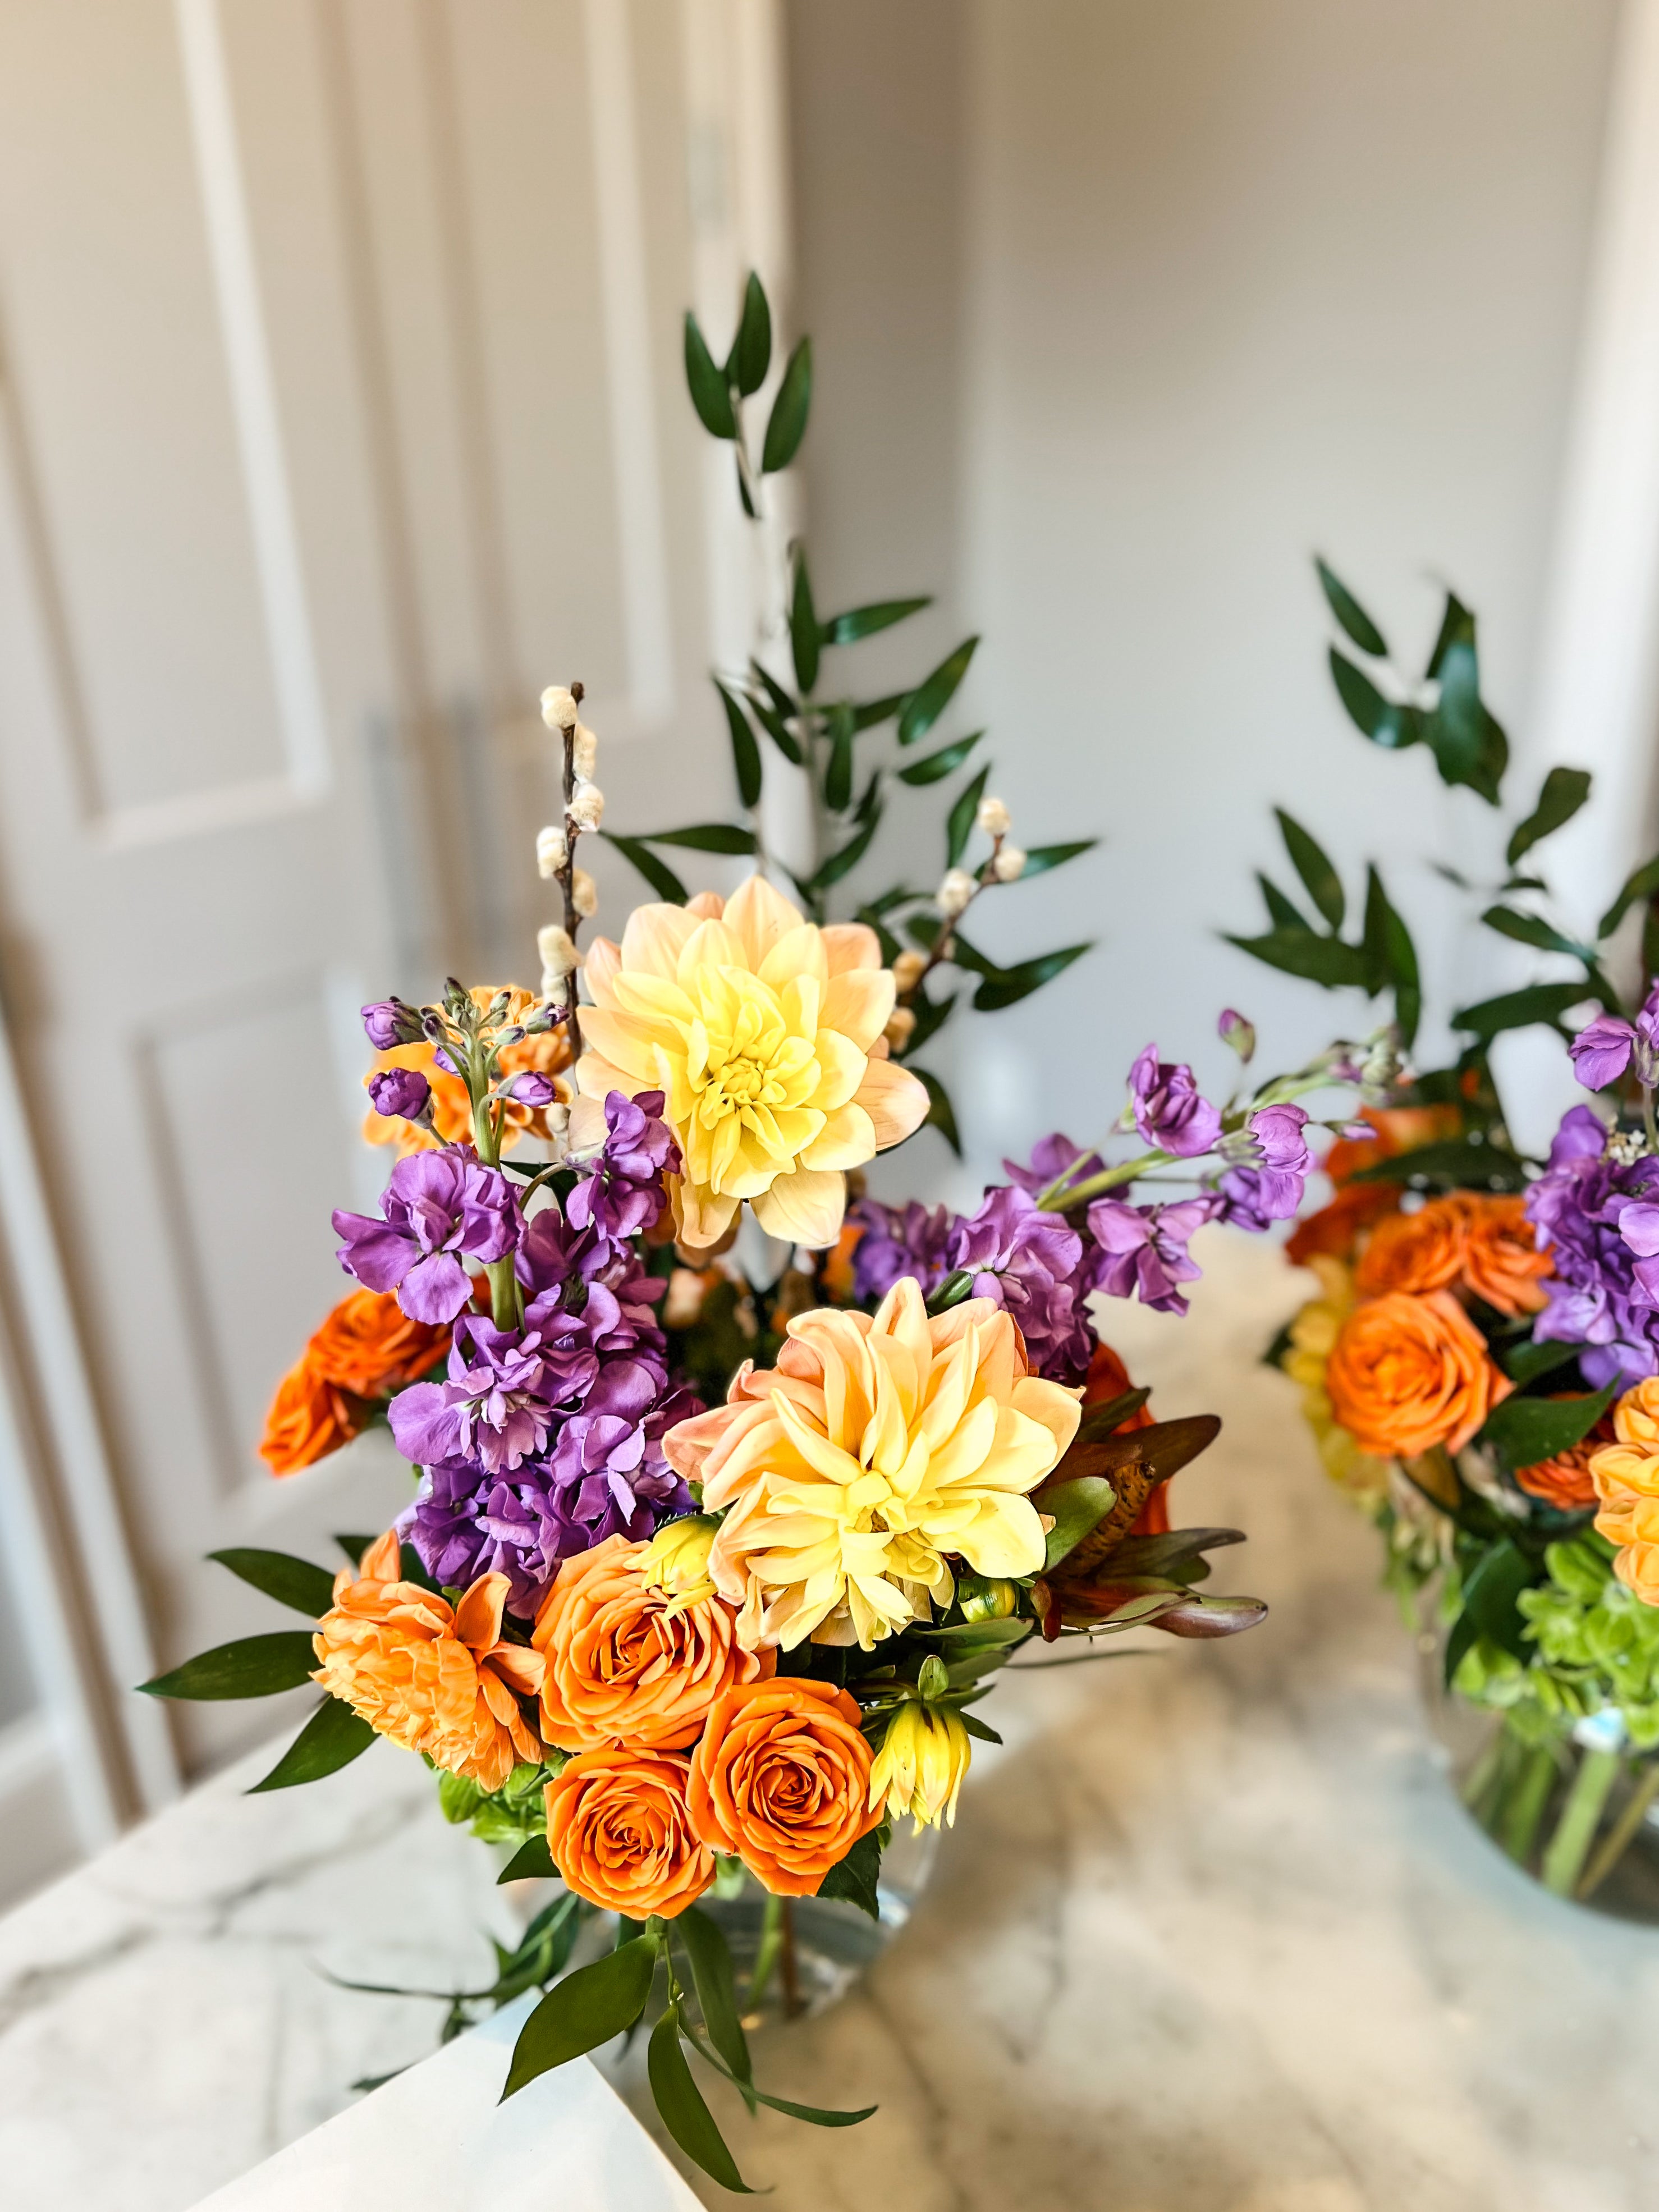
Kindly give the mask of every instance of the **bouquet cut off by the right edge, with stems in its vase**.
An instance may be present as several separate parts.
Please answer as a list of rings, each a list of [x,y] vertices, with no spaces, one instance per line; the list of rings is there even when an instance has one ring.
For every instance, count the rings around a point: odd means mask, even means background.
[[[1420,745],[1447,785],[1500,810],[1509,748],[1480,697],[1475,617],[1449,595],[1425,677],[1407,681],[1318,573],[1367,661],[1332,646],[1349,719],[1389,750]],[[1502,1723],[1473,1736],[1469,1807],[1546,1887],[1652,1918],[1626,1854],[1659,1801],[1659,860],[1630,874],[1593,942],[1573,936],[1537,847],[1588,794],[1588,772],[1551,768],[1531,812],[1500,827],[1491,887],[1440,869],[1480,898],[1486,929],[1566,973],[1453,1011],[1467,1042],[1451,1066],[1378,1071],[1358,1141],[1325,1155],[1329,1203],[1290,1237],[1318,1296],[1270,1360],[1298,1385],[1327,1473],[1376,1520],[1407,1617],[1429,1608],[1442,1688]],[[1378,872],[1349,942],[1336,867],[1279,823],[1323,927],[1263,878],[1272,929],[1232,942],[1327,989],[1391,991],[1409,1053],[1418,964]],[[1615,973],[1635,978],[1630,998]],[[1515,1146],[1491,1057],[1531,1024],[1597,1095],[1546,1159]]]

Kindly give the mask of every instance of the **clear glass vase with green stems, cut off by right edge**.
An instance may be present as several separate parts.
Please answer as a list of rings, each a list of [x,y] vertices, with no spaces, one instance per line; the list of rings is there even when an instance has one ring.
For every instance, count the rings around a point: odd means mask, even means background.
[[[1617,1712],[1473,1705],[1444,1688],[1444,1630],[1420,1644],[1429,1719],[1475,1825],[1557,1898],[1659,1927],[1659,1752],[1632,1750]]]

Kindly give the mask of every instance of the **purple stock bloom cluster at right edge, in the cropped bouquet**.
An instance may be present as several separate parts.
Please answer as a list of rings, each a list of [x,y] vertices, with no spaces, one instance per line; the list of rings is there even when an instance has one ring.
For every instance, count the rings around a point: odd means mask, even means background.
[[[1575,1106],[1555,1133],[1526,1219],[1555,1261],[1542,1283],[1542,1340],[1579,1345],[1593,1389],[1659,1374],[1659,1159],[1617,1161],[1606,1128]]]

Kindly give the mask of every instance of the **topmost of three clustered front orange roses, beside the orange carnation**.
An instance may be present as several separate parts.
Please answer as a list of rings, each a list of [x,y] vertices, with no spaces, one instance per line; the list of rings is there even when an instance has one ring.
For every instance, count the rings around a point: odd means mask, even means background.
[[[723,1597],[677,1601],[650,1588],[650,1544],[608,1535],[566,1559],[535,1617],[546,1659],[542,1734],[562,1752],[679,1750],[701,1734],[708,1708],[734,1681],[761,1681],[774,1652],[737,1644],[737,1608]]]

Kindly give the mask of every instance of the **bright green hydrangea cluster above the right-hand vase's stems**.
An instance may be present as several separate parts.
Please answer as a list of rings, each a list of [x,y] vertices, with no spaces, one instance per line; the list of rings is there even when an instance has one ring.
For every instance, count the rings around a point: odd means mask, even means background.
[[[1522,1734],[1617,1708],[1635,1750],[1650,1752],[1659,1745],[1659,1608],[1626,1590],[1595,1537],[1551,1544],[1544,1566],[1548,1582],[1517,1599],[1537,1655],[1522,1661],[1482,1637],[1453,1688],[1511,1714]]]

